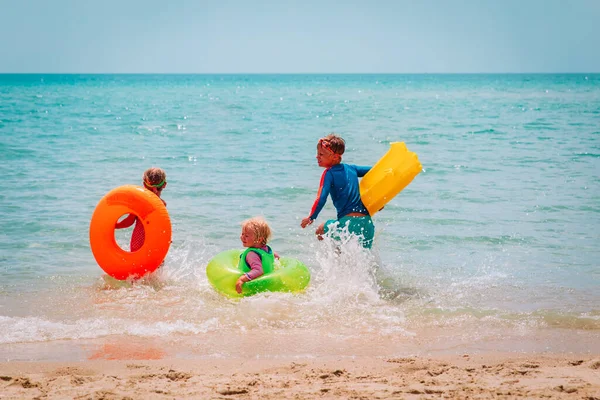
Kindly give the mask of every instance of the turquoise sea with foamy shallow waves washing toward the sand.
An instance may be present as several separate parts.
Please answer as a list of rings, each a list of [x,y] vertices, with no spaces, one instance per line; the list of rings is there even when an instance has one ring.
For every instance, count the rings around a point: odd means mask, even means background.
[[[331,132],[423,166],[370,251],[300,227]],[[0,361],[600,351],[600,74],[1,74],[0,161]],[[90,219],[152,166],[172,244],[116,281]],[[305,292],[212,288],[252,216]]]

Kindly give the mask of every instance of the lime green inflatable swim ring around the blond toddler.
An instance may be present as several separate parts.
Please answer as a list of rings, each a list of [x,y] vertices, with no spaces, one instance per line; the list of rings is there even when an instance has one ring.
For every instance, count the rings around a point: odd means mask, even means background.
[[[295,258],[275,260],[275,270],[259,276],[242,286],[242,294],[235,291],[235,283],[242,275],[238,269],[241,250],[226,250],[214,256],[206,266],[210,284],[227,297],[252,296],[260,292],[301,292],[310,282],[310,272]]]

